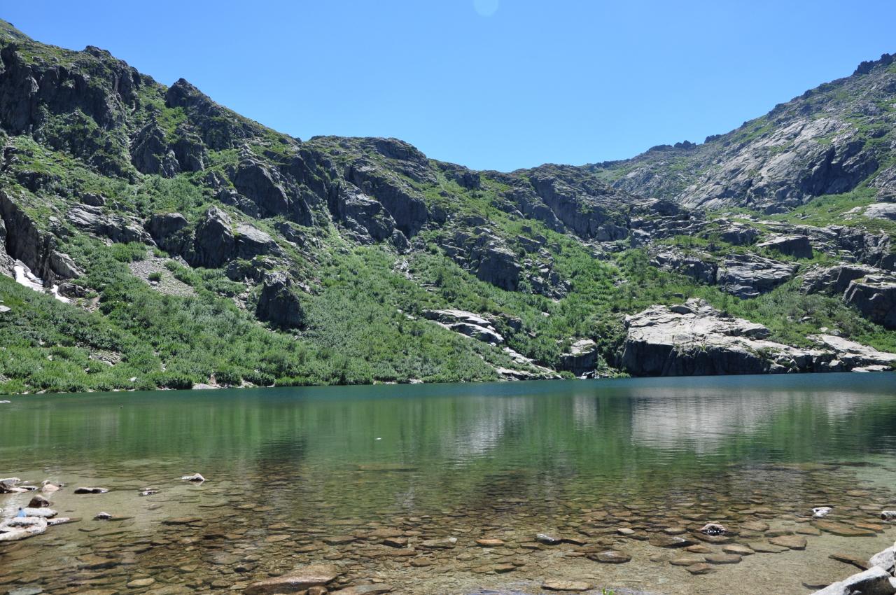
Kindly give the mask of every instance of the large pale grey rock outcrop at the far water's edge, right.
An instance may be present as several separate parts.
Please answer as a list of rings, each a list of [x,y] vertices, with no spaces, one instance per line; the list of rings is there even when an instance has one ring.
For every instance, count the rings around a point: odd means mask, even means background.
[[[632,375],[829,372],[883,369],[896,362],[896,354],[830,335],[816,338],[819,349],[770,341],[762,324],[723,315],[696,298],[679,306],[651,306],[626,316],[625,326],[619,363]]]

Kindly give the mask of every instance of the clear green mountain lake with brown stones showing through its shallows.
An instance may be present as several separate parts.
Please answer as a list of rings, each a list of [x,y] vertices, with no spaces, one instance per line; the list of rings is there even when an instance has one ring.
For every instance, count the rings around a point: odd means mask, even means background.
[[[48,497],[82,521],[0,546],[0,593],[238,592],[310,563],[339,566],[333,591],[540,593],[565,579],[597,592],[808,593],[804,582],[856,570],[831,553],[867,557],[896,538],[877,518],[896,508],[893,397],[888,374],[13,397],[0,405],[0,477],[65,482]],[[205,483],[179,479],[197,471]],[[74,495],[82,485],[111,491]],[[12,515],[30,496],[0,495],[0,508]],[[819,505],[880,530],[820,531]],[[130,518],[91,520],[99,512]],[[697,539],[705,522],[724,524],[729,543]],[[706,551],[658,547],[676,527]],[[538,545],[536,533],[585,545]],[[806,549],[702,575],[669,564],[780,533],[805,535]],[[456,545],[424,546],[448,537]],[[602,549],[632,560],[585,555]],[[125,586],[142,578],[154,582]]]

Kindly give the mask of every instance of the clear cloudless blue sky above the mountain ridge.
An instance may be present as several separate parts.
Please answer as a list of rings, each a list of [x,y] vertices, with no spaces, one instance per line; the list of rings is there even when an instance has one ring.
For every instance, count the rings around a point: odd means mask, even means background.
[[[501,170],[702,142],[896,52],[892,0],[29,0],[0,17],[303,139],[395,136]]]

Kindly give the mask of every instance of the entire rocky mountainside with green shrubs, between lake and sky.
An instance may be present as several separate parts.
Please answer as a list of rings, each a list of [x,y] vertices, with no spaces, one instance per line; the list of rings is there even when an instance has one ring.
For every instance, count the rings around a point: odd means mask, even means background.
[[[0,25],[4,392],[892,367],[890,56],[702,145],[500,173]]]

